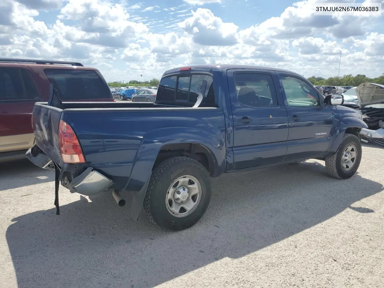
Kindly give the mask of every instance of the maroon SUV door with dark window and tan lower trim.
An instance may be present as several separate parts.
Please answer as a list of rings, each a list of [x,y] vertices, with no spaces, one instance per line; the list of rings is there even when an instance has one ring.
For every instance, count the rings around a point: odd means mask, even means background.
[[[42,101],[28,68],[0,66],[0,152],[29,149],[33,105]]]

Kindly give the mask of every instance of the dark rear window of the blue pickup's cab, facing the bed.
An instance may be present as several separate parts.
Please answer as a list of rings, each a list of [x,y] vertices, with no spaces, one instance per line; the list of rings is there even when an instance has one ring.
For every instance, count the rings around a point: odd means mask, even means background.
[[[156,103],[192,107],[197,101],[204,80],[207,81],[200,107],[216,107],[212,76],[206,74],[166,76],[157,89]]]

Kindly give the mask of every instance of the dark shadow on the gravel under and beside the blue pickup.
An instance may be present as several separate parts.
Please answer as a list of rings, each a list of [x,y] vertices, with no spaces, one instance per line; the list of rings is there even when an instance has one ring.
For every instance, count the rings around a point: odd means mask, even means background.
[[[278,177],[276,177],[278,175]],[[153,287],[224,257],[238,258],[321,223],[382,191],[359,174],[326,176],[316,161],[225,174],[194,227],[165,232],[111,195],[13,219],[6,237],[23,287]],[[130,200],[130,199],[127,199]],[[128,202],[129,203],[129,202]],[[128,204],[129,207],[129,204]]]

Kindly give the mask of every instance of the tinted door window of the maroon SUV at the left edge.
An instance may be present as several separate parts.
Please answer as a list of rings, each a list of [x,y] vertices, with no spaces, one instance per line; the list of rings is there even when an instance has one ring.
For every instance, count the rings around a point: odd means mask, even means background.
[[[31,74],[22,68],[0,68],[0,102],[38,101],[41,95]]]

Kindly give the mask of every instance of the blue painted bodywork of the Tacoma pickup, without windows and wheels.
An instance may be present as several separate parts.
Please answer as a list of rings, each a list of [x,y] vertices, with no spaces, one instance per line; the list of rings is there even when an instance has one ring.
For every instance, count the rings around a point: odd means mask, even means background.
[[[35,104],[36,144],[63,164],[58,148],[58,123],[68,122],[76,133],[86,164],[107,175],[114,189],[141,191],[144,197],[159,151],[167,144],[197,143],[214,159],[214,176],[337,151],[350,127],[367,127],[361,113],[344,106],[288,107],[280,73],[308,80],[285,70],[253,66],[195,66],[211,73],[217,108],[178,108],[152,103],[77,103],[81,108],[58,109]],[[252,108],[237,102],[233,75],[237,71],[266,73],[273,78],[278,106]],[[179,73],[179,68],[164,75]],[[315,90],[317,91],[317,89]],[[323,99],[323,98],[321,98]],[[79,106],[80,107],[80,106]],[[103,108],[98,108],[103,107]],[[292,116],[299,120],[293,121]],[[249,123],[241,122],[244,117]],[[326,133],[316,136],[315,133]],[[144,192],[143,192],[144,191]]]

